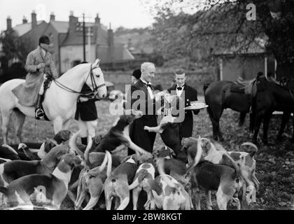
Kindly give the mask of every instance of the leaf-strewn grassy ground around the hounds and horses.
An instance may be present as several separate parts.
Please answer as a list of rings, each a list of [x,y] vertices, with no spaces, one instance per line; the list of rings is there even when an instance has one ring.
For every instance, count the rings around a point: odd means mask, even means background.
[[[97,134],[106,134],[117,116],[109,113],[109,102],[97,102],[99,125]],[[239,113],[234,111],[224,111],[221,118],[221,130],[225,141],[221,144],[225,149],[238,151],[239,146],[245,141],[250,141],[251,136],[248,132],[248,118],[244,127],[238,127]],[[12,118],[13,119],[13,118]],[[294,144],[288,141],[290,130],[286,130],[283,136],[283,144],[276,143],[277,131],[281,122],[281,117],[272,118],[269,125],[270,146],[265,146],[260,142],[257,154],[256,176],[260,181],[260,190],[257,193],[257,202],[250,204],[248,209],[294,209]],[[71,131],[78,130],[73,121]],[[0,131],[1,132],[1,131]],[[9,139],[13,139],[13,125],[10,125]],[[260,131],[262,134],[262,131]],[[200,134],[201,137],[212,138],[212,126],[206,110],[194,117],[193,136]],[[52,125],[44,121],[36,121],[27,118],[23,129],[23,141],[43,141],[53,137]],[[3,142],[0,137],[0,142]],[[156,137],[155,148],[162,146],[160,135]],[[212,197],[214,209],[217,209],[216,198]],[[204,209],[204,204],[202,204]],[[73,204],[67,200],[62,209],[73,209]],[[234,208],[232,208],[234,209]]]

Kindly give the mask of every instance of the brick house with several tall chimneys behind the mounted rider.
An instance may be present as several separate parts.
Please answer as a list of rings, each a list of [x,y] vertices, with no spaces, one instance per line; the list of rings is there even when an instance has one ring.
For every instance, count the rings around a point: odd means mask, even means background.
[[[36,13],[31,13],[31,22],[24,18],[21,25],[12,27],[12,20],[7,18],[7,29],[14,29],[18,36],[29,43],[29,50],[38,46],[38,38],[47,35],[50,38],[50,52],[59,73],[71,69],[76,64],[83,62],[83,22],[69,15],[69,22],[55,20],[55,15],[50,15],[50,21],[37,21]],[[94,22],[86,22],[86,61],[94,62],[99,57],[102,63],[116,61],[130,61],[134,59],[132,53],[125,48],[123,43],[113,37],[111,27],[107,29],[100,23],[97,14]],[[90,41],[89,41],[90,40]]]

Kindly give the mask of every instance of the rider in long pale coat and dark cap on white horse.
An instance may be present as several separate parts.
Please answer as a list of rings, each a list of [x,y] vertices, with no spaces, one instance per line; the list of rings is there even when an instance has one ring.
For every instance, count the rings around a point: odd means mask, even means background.
[[[13,93],[18,97],[19,104],[23,106],[35,106],[36,119],[41,119],[45,116],[41,108],[42,95],[44,92],[43,83],[47,83],[45,76],[58,78],[57,70],[53,62],[48,48],[50,39],[48,36],[41,36],[39,45],[36,50],[33,50],[27,56],[25,69],[28,72],[24,85],[18,85],[13,90]],[[44,82],[45,81],[45,82]]]

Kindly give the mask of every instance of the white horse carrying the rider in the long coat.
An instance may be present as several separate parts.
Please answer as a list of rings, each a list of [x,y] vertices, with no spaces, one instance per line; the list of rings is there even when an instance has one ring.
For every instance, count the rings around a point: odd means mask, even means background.
[[[0,111],[4,144],[7,144],[8,123],[13,112],[17,117],[16,138],[18,142],[22,142],[21,134],[25,117],[35,117],[34,107],[20,105],[12,92],[21,83],[25,83],[25,80],[13,79],[0,86]],[[85,83],[91,88],[93,94],[98,94],[101,99],[106,97],[107,90],[104,74],[99,68],[99,59],[94,64],[79,64],[73,67],[56,80],[53,80],[45,92],[42,105],[46,116],[53,123],[55,134],[60,130],[68,129],[70,120],[76,113],[78,96]]]

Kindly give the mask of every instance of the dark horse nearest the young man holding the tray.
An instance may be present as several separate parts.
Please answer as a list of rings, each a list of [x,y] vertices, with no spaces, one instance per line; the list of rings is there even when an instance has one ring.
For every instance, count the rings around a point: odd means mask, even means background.
[[[253,80],[252,80],[253,82]],[[249,91],[251,92],[251,91]],[[239,125],[244,124],[246,113],[251,107],[251,93],[245,94],[244,86],[232,81],[216,81],[210,85],[204,85],[205,102],[209,106],[207,112],[211,119],[214,139],[223,141],[219,121],[224,109],[230,108],[240,112]]]

